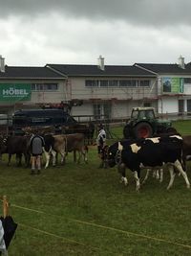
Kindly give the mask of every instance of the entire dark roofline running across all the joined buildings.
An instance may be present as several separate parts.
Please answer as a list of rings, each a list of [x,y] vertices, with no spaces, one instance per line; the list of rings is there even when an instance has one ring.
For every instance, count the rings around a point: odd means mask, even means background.
[[[47,64],[44,67],[5,66],[0,79],[66,79],[67,77],[149,77],[157,75],[189,75],[191,63],[182,69],[178,64],[135,63],[134,65],[105,65],[101,70],[97,65]]]

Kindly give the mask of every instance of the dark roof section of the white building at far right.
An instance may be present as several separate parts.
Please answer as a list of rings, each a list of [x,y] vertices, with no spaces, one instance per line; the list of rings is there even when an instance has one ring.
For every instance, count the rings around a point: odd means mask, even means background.
[[[156,74],[191,75],[190,63],[185,65],[184,69],[179,64],[135,63],[134,65]]]

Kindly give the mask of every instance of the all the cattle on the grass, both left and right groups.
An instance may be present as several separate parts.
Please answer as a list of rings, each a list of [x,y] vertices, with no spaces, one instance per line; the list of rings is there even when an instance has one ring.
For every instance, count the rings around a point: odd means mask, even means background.
[[[17,165],[21,165],[22,157],[25,165],[30,166],[31,149],[29,142],[32,134],[23,136],[0,136],[0,157],[2,154],[9,155],[8,165],[11,165],[11,155],[15,154]],[[57,155],[61,156],[61,163],[65,163],[68,152],[74,151],[74,162],[79,163],[81,157],[85,163],[88,162],[88,146],[86,145],[83,133],[73,134],[46,134],[44,155],[46,159],[45,168],[49,167],[50,159],[53,166],[56,164]],[[78,158],[76,159],[76,152]],[[186,187],[190,188],[187,176],[186,161],[191,158],[191,135],[180,136],[180,134],[163,134],[153,138],[122,139],[110,146],[105,146],[101,153],[100,167],[117,166],[121,175],[121,182],[128,184],[126,169],[133,172],[136,180],[136,190],[140,188],[140,172],[147,169],[143,183],[146,181],[149,172],[153,171],[161,182],[163,171],[170,174],[170,181],[167,189],[173,185],[175,175],[182,175]]]

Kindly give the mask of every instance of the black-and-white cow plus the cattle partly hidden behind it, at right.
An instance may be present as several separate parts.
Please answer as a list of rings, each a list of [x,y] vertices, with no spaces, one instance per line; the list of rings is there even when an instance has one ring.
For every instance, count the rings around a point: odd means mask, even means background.
[[[121,175],[121,182],[128,184],[126,169],[133,172],[136,179],[136,190],[140,188],[140,172],[146,169],[146,175],[141,182],[145,183],[150,171],[163,180],[163,171],[168,170],[170,181],[167,189],[173,185],[175,175],[182,175],[186,187],[190,188],[187,176],[187,160],[191,159],[191,135],[160,134],[153,138],[123,139],[115,142],[101,151],[101,166],[114,167]]]

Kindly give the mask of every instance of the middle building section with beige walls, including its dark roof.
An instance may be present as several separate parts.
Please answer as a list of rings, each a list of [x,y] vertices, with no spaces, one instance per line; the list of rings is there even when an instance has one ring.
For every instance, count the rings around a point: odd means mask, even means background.
[[[133,106],[157,107],[156,75],[136,66],[56,65],[53,71],[65,75],[68,101],[81,101],[72,108],[73,115],[127,118]]]

